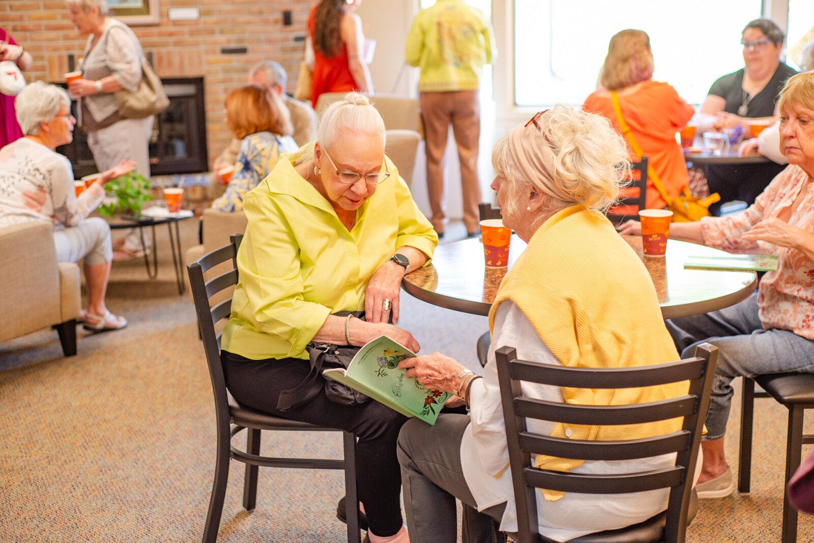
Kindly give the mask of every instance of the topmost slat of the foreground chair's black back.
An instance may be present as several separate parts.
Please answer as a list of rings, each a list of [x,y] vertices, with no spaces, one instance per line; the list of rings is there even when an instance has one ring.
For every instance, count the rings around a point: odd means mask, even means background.
[[[516,360],[511,365],[511,378],[575,389],[628,389],[698,379],[704,367],[703,358],[697,357],[622,368],[566,367]]]

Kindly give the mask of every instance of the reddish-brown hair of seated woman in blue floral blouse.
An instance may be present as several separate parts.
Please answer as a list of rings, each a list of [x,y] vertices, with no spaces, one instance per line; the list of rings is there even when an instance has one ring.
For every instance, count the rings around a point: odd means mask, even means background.
[[[256,85],[234,89],[224,102],[230,128],[243,139],[257,132],[274,132],[280,136],[291,134],[291,116],[277,94]]]

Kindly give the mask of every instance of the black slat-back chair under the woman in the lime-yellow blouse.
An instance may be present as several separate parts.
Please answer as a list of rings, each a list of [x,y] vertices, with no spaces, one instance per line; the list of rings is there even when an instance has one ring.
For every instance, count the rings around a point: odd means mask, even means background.
[[[246,464],[246,476],[243,481],[243,507],[253,510],[257,495],[257,468],[264,467],[300,467],[307,469],[334,469],[345,471],[346,502],[355,504],[356,486],[356,439],[350,432],[338,428],[325,428],[295,420],[282,419],[268,413],[241,406],[226,389],[221,366],[221,333],[215,331],[215,325],[221,319],[229,319],[232,299],[217,302],[210,307],[209,298],[238,283],[237,254],[242,234],[235,234],[231,243],[220,249],[204,254],[201,258],[187,265],[198,312],[199,331],[204,341],[204,353],[212,379],[212,393],[215,396],[215,419],[217,424],[217,457],[215,463],[215,480],[212,484],[212,497],[209,500],[204,543],[217,541],[217,532],[221,523],[221,512],[229,479],[229,461],[238,460]],[[232,262],[230,270],[212,280],[204,280],[204,272],[220,263]],[[239,450],[231,444],[235,434],[248,429],[246,450]],[[260,432],[262,430],[296,430],[309,432],[343,432],[344,459],[322,458],[271,458],[260,456]],[[359,516],[357,507],[348,507],[348,542],[359,543]]]

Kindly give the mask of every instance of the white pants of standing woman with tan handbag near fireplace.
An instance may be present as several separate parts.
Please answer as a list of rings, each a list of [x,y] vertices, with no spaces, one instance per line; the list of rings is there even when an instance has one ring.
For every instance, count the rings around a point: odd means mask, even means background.
[[[155,117],[146,119],[122,119],[107,128],[88,132],[88,146],[94,154],[99,172],[104,172],[122,160],[134,160],[136,172],[150,179],[150,136]],[[144,238],[149,249],[151,239]],[[125,249],[142,250],[138,228],[129,228],[125,238]]]

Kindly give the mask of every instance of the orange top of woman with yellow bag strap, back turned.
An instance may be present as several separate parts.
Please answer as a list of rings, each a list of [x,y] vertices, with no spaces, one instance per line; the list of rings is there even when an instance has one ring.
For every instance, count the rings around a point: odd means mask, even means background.
[[[681,99],[676,89],[667,83],[647,80],[631,93],[620,92],[619,107],[664,190],[671,197],[677,196],[687,186],[687,165],[681,146],[676,142],[676,132],[692,119],[695,112],[693,106]],[[608,91],[597,90],[585,100],[582,108],[604,115],[621,132]],[[631,160],[638,159],[631,151]],[[659,209],[666,205],[667,202],[648,179],[646,207]]]

